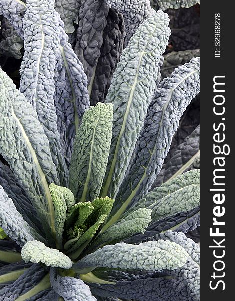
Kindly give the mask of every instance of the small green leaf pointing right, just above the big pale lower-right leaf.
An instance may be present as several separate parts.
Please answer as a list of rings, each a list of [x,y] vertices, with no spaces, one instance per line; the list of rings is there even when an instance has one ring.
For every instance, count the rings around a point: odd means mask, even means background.
[[[112,225],[95,239],[95,244],[101,244],[112,241],[120,241],[135,233],[144,233],[148,224],[151,222],[151,209],[139,208],[118,223]]]

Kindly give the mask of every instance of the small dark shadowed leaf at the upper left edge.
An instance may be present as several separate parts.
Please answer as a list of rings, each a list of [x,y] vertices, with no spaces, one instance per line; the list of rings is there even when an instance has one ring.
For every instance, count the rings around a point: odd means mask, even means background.
[[[10,22],[4,17],[2,17],[1,22],[0,37],[0,56],[13,56],[16,59],[20,59],[23,41]]]

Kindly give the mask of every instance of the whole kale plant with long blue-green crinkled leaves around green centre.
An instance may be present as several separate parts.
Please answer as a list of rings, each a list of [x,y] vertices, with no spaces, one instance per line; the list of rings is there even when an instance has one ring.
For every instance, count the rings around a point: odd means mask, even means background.
[[[169,18],[148,0],[0,15],[1,46],[23,41],[19,89],[0,68],[0,300],[199,300],[199,57],[161,78]]]

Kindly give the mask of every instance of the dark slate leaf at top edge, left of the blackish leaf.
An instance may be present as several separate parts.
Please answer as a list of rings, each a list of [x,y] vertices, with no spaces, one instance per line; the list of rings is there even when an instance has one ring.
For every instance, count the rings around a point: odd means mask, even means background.
[[[95,68],[103,44],[103,31],[107,24],[108,8],[103,0],[82,0],[75,53],[84,66],[89,94],[92,90]]]

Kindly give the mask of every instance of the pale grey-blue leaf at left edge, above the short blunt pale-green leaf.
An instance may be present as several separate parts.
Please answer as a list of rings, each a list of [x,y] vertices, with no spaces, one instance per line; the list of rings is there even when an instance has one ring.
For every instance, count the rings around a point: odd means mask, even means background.
[[[42,239],[36,231],[24,221],[17,211],[13,201],[7,196],[0,186],[0,227],[4,233],[13,239],[19,246],[27,241]],[[2,239],[2,238],[1,238]]]

